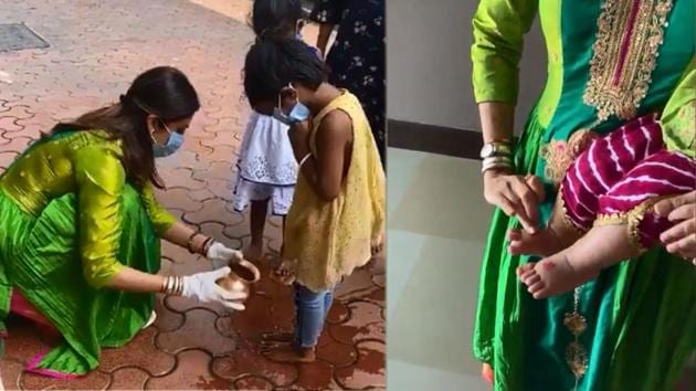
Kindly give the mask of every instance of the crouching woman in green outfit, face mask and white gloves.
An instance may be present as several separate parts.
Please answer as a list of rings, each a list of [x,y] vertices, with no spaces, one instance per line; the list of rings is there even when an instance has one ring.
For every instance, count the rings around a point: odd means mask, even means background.
[[[124,346],[154,320],[155,293],[244,308],[245,294],[215,284],[241,253],[155,199],[155,158],[181,146],[199,107],[181,72],[152,68],[120,103],[55,126],[0,176],[0,326],[13,311],[64,338],[28,370],[71,378],[95,369],[102,348]],[[215,270],[157,275],[160,237]]]

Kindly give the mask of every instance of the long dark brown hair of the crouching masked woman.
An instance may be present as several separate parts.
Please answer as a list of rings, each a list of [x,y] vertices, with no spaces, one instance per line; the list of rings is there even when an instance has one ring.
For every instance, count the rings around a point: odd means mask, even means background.
[[[84,114],[72,123],[59,124],[52,133],[108,133],[123,142],[122,162],[128,181],[138,188],[150,181],[161,189],[164,182],[155,166],[147,116],[176,121],[191,117],[199,108],[198,94],[186,75],[177,68],[159,66],[136,77],[119,103]]]

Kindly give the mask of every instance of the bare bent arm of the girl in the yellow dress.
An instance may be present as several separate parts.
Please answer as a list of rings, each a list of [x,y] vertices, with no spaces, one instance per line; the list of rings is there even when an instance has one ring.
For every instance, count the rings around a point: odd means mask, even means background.
[[[314,191],[325,201],[333,201],[340,193],[347,157],[352,140],[352,121],[341,110],[324,117],[316,135],[317,155],[309,156],[300,167]],[[291,129],[291,142],[297,161],[310,154],[307,124]]]

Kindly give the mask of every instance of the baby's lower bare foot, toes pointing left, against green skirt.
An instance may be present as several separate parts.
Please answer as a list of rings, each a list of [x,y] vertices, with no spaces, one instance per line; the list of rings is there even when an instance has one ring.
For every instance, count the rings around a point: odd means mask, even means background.
[[[519,279],[527,285],[534,298],[560,295],[595,278],[600,267],[573,266],[567,252],[553,254],[539,262],[530,262],[518,268]]]

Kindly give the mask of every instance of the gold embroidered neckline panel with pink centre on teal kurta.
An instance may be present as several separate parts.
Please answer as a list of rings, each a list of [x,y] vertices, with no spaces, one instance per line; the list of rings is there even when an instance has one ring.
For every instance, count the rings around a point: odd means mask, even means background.
[[[600,120],[612,115],[635,117],[650,87],[671,10],[672,0],[604,1],[583,96]],[[629,32],[631,36],[625,35]]]

